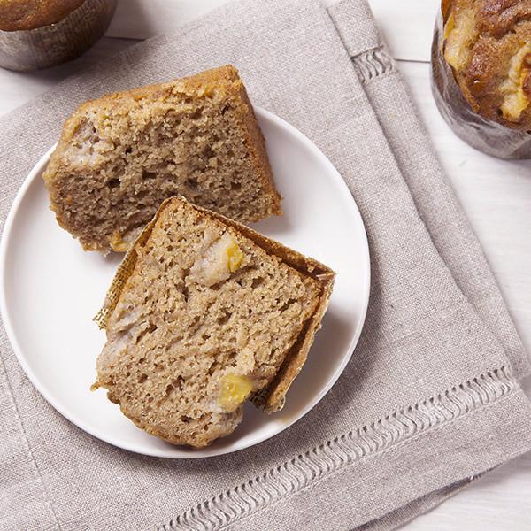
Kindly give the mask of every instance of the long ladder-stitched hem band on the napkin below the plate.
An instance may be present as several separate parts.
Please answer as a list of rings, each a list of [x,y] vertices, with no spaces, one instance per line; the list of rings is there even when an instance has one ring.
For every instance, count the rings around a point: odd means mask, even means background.
[[[247,483],[190,508],[158,529],[220,530],[228,525],[296,495],[316,482],[342,472],[375,453],[405,446],[435,428],[447,427],[466,413],[481,411],[518,389],[507,367],[483,373],[443,393],[371,425],[359,427],[322,443]],[[431,429],[430,429],[431,428]]]

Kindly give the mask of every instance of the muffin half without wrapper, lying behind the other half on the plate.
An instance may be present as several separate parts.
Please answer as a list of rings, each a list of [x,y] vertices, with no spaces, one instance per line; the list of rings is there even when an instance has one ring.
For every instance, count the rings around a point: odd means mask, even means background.
[[[104,253],[128,250],[171,196],[243,223],[281,214],[263,135],[231,65],[82,104],[43,178],[59,225]]]

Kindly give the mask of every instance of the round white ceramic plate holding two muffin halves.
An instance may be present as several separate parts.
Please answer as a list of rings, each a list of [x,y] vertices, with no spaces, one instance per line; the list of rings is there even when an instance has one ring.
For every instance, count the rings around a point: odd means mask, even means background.
[[[50,152],[35,165],[12,205],[0,246],[0,305],[13,349],[42,396],[107,443],[163,458],[242,450],[309,412],[350,360],[366,316],[370,283],[358,208],[341,175],[310,140],[270,112],[257,109],[257,115],[284,197],[284,215],[255,227],[332,267],[337,279],[323,327],[284,409],[266,415],[248,404],[235,433],[204,450],[173,446],[144,433],[106,399],[103,389],[89,390],[105,341],[92,318],[121,256],[84,252],[58,227],[41,178]]]

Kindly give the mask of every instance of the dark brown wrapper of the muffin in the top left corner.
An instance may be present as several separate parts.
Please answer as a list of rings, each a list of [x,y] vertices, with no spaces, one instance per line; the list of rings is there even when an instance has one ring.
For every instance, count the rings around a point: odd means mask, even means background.
[[[76,58],[109,26],[117,0],[85,0],[65,19],[35,29],[0,30],[0,66],[29,71]]]

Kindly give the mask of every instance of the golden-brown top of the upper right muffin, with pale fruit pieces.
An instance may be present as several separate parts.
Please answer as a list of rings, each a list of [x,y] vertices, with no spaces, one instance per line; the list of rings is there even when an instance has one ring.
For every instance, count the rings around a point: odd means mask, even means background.
[[[446,0],[443,56],[475,112],[531,129],[531,0]]]

